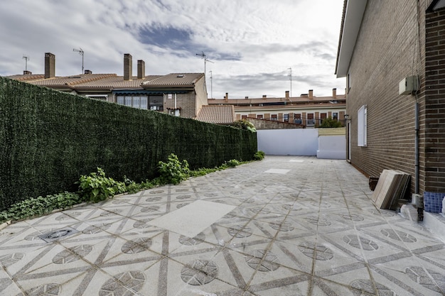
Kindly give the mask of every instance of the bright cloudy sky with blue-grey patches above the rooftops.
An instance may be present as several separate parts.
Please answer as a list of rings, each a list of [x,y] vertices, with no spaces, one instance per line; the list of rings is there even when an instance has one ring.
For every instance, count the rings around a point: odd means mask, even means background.
[[[137,60],[146,75],[204,72],[205,53],[209,97],[343,94],[334,75],[342,9],[343,0],[1,1],[0,75],[23,73],[23,55],[41,74],[48,52],[56,76],[80,74],[74,48],[85,69],[117,75],[124,53],[134,75]]]

